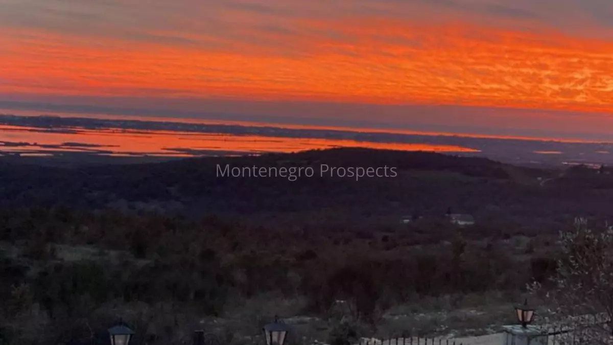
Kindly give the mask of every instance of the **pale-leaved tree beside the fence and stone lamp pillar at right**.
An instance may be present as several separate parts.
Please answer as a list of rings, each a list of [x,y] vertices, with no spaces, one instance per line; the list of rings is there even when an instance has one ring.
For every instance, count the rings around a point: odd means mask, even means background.
[[[573,328],[570,338],[613,344],[613,231],[596,234],[587,223],[560,233],[560,257],[547,296],[558,327]],[[543,291],[538,282],[531,292]],[[557,316],[557,317],[556,317]]]

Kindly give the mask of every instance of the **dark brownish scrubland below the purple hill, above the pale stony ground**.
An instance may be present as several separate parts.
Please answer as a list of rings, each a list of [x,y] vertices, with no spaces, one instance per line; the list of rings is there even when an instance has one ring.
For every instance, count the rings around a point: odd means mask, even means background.
[[[315,315],[346,300],[356,319],[375,322],[378,311],[413,298],[516,292],[553,268],[543,255],[525,262],[501,247],[503,241],[479,244],[457,231],[447,244],[416,247],[410,238],[419,227],[384,234],[292,232],[215,217],[194,222],[62,208],[4,209],[0,219],[6,244],[0,301],[12,326],[3,334],[20,344],[32,336],[44,335],[49,344],[85,336],[78,320],[102,310],[99,322],[110,322],[117,303],[167,302],[215,316],[228,300],[271,292],[306,298],[304,312]],[[534,246],[520,250],[532,253]],[[33,308],[51,319],[29,334]]]

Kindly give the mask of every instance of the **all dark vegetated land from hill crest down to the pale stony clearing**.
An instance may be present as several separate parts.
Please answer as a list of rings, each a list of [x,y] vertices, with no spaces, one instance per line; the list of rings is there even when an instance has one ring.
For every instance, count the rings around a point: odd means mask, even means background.
[[[399,176],[215,177],[218,163],[364,162],[397,166]],[[512,300],[555,269],[549,230],[577,213],[607,215],[603,201],[613,196],[602,190],[536,180],[557,173],[347,149],[80,169],[5,165],[0,344],[91,339],[118,316],[154,344],[266,293],[302,298],[301,312],[315,316],[343,300],[365,324],[426,297],[498,291]],[[449,207],[477,224],[452,226],[443,217]],[[398,224],[411,213],[424,217]]]

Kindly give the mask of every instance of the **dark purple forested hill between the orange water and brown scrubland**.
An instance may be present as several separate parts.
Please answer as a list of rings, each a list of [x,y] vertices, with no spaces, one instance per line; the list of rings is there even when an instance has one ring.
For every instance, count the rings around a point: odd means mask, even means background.
[[[217,166],[312,167],[313,177],[218,177]],[[394,167],[395,177],[320,176],[319,167]],[[577,214],[607,217],[611,193],[543,187],[557,176],[478,157],[372,149],[313,150],[253,157],[190,158],[139,165],[51,168],[2,163],[5,204],[190,215],[304,215],[364,223],[397,222],[405,214],[438,217],[451,207],[478,219],[539,224]],[[551,184],[555,186],[555,184]],[[581,192],[581,193],[579,193]]]

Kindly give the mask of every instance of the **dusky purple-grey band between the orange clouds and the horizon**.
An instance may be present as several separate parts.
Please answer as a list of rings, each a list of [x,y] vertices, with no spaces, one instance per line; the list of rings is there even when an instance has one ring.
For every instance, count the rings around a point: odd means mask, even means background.
[[[143,104],[148,103],[148,106]],[[115,104],[115,106],[108,106]],[[53,102],[0,101],[0,113],[105,114],[204,118],[314,126],[352,126],[427,132],[533,136],[612,141],[608,114],[469,106],[379,106],[315,102],[211,101],[194,99],[60,98]],[[200,110],[195,110],[200,109]],[[287,116],[291,112],[292,116]],[[484,123],[483,118],[493,120]],[[562,127],[550,128],[554,120]],[[517,125],[520,123],[520,125]],[[502,124],[502,125],[500,125]],[[505,125],[506,124],[506,125]],[[547,129],[549,128],[549,129]]]

